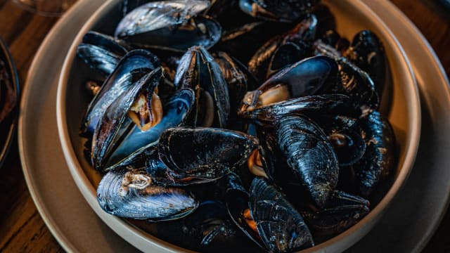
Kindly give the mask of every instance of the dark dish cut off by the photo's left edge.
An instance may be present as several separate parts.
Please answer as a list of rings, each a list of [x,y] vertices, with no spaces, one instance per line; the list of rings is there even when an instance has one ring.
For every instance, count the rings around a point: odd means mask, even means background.
[[[13,92],[16,96],[15,103],[18,103],[20,98],[20,88],[19,88],[19,77],[17,75],[17,71],[15,70],[15,65],[13,62],[13,58],[11,57],[11,53],[9,53],[8,46],[3,39],[0,37],[0,60],[4,62],[6,72],[12,82]],[[1,92],[0,92],[1,94]],[[0,98],[1,100],[1,98]],[[3,165],[6,155],[8,155],[9,148],[11,147],[11,143],[13,143],[15,128],[17,126],[17,117],[18,117],[18,106],[15,105],[13,110],[9,112],[8,116],[4,118],[2,122],[0,122],[0,168]]]

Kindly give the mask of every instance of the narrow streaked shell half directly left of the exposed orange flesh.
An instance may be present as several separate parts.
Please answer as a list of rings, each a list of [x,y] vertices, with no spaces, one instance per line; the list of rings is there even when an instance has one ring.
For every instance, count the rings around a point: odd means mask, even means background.
[[[104,168],[105,162],[109,160],[117,143],[120,143],[119,139],[125,135],[122,130],[124,123],[131,125],[131,122],[126,120],[127,112],[136,98],[143,91],[152,94],[160,83],[161,77],[162,70],[158,67],[144,75],[129,90],[122,93],[122,96],[117,97],[108,108],[105,108],[92,137],[91,160],[95,169],[101,170]],[[127,126],[124,127],[127,128]]]

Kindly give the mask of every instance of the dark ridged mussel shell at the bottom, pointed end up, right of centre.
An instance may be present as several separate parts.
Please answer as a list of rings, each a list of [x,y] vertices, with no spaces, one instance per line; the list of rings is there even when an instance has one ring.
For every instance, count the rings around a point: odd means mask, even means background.
[[[314,246],[309,228],[283,193],[256,177],[250,186],[250,214],[270,252],[292,252]]]

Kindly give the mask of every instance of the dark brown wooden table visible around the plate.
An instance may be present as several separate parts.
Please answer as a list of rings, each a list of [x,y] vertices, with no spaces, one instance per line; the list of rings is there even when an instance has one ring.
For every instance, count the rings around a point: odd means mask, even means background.
[[[392,2],[423,32],[449,75],[450,11],[434,0]],[[34,53],[57,20],[24,11],[11,0],[0,0],[0,36],[11,50],[22,89]],[[4,167],[0,169],[0,179],[0,252],[63,252],[30,197],[20,167],[17,144],[13,145]],[[425,252],[450,252],[449,234],[450,211]]]

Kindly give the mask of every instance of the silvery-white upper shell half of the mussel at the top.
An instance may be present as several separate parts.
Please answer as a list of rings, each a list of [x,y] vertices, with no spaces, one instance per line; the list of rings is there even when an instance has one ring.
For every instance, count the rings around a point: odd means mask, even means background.
[[[205,10],[210,2],[205,0],[153,1],[128,13],[115,29],[115,37],[129,38],[165,27],[181,25]]]

